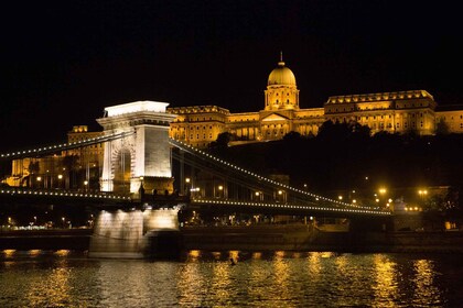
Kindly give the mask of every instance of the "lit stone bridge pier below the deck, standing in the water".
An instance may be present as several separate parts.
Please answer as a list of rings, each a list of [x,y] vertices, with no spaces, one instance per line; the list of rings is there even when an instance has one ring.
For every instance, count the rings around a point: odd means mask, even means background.
[[[101,210],[90,239],[89,257],[175,257],[181,249],[176,209]],[[175,255],[176,254],[176,255]]]

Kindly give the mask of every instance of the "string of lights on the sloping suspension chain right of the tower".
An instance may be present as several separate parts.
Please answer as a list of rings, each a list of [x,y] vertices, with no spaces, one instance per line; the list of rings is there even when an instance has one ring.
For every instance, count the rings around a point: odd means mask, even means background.
[[[254,176],[254,177],[256,177],[259,180],[265,180],[265,182],[268,182],[270,184],[280,186],[282,188],[286,188],[286,189],[289,189],[289,190],[292,190],[292,191],[295,191],[295,193],[299,193],[299,194],[302,194],[302,195],[310,196],[310,197],[314,198],[316,201],[322,200],[322,201],[327,201],[327,202],[332,202],[332,204],[335,204],[335,205],[341,205],[341,206],[345,206],[345,207],[352,207],[352,208],[355,208],[355,209],[364,209],[366,211],[370,210],[370,208],[368,208],[368,207],[362,207],[362,206],[358,206],[358,205],[346,204],[346,202],[343,202],[343,201],[334,200],[334,199],[331,199],[331,198],[319,196],[319,195],[315,195],[315,194],[312,194],[312,193],[309,193],[309,191],[305,191],[305,190],[302,190],[302,189],[299,189],[299,188],[294,188],[294,187],[291,187],[291,186],[286,185],[286,184],[282,184],[282,183],[279,183],[277,180],[273,180],[273,179],[263,177],[261,175],[258,175],[256,173],[252,173],[250,170],[247,170],[245,168],[241,168],[239,166],[236,166],[236,165],[234,165],[232,163],[228,163],[228,162],[226,162],[224,160],[220,160],[218,157],[215,157],[214,155],[211,155],[209,153],[206,153],[206,152],[204,152],[204,151],[202,151],[202,150],[200,150],[200,148],[197,148],[197,147],[195,147],[193,145],[186,144],[186,143],[184,143],[182,141],[170,139],[170,142],[172,144],[174,144],[174,145],[180,145],[180,147],[184,147],[184,148],[189,148],[191,151],[194,151],[195,153],[198,153],[198,154],[201,154],[203,156],[206,156],[207,158],[211,158],[211,160],[213,160],[213,161],[215,161],[217,163],[220,163],[220,164],[223,164],[223,165],[225,165],[227,167],[232,167],[232,168],[234,168],[234,169],[236,169],[238,172],[241,172],[241,173],[245,173],[247,175]]]

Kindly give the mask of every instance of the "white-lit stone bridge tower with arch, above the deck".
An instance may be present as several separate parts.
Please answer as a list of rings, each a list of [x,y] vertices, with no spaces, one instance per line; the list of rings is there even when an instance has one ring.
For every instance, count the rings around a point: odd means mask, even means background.
[[[169,103],[136,101],[106,107],[97,122],[104,134],[125,133],[105,144],[101,191],[172,193],[173,177],[169,144],[170,122],[175,114],[166,113]]]

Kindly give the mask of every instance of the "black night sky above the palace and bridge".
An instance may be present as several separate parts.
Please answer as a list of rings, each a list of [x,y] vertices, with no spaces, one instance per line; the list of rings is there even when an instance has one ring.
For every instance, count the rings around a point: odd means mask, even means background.
[[[100,128],[105,107],[263,108],[279,53],[301,108],[426,89],[463,103],[457,1],[8,1],[1,4],[0,152]]]

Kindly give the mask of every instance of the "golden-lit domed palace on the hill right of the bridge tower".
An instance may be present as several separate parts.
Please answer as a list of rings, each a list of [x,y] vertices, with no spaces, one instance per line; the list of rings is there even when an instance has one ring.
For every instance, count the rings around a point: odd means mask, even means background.
[[[234,136],[230,144],[280,140],[294,131],[316,135],[323,122],[357,122],[380,131],[420,135],[434,134],[438,122],[448,132],[463,133],[463,107],[438,107],[426,90],[333,96],[323,108],[301,109],[294,74],[282,58],[270,73],[265,90],[263,110],[232,113],[217,106],[168,108],[177,118],[171,123],[170,136],[191,145],[206,147],[218,134]]]

